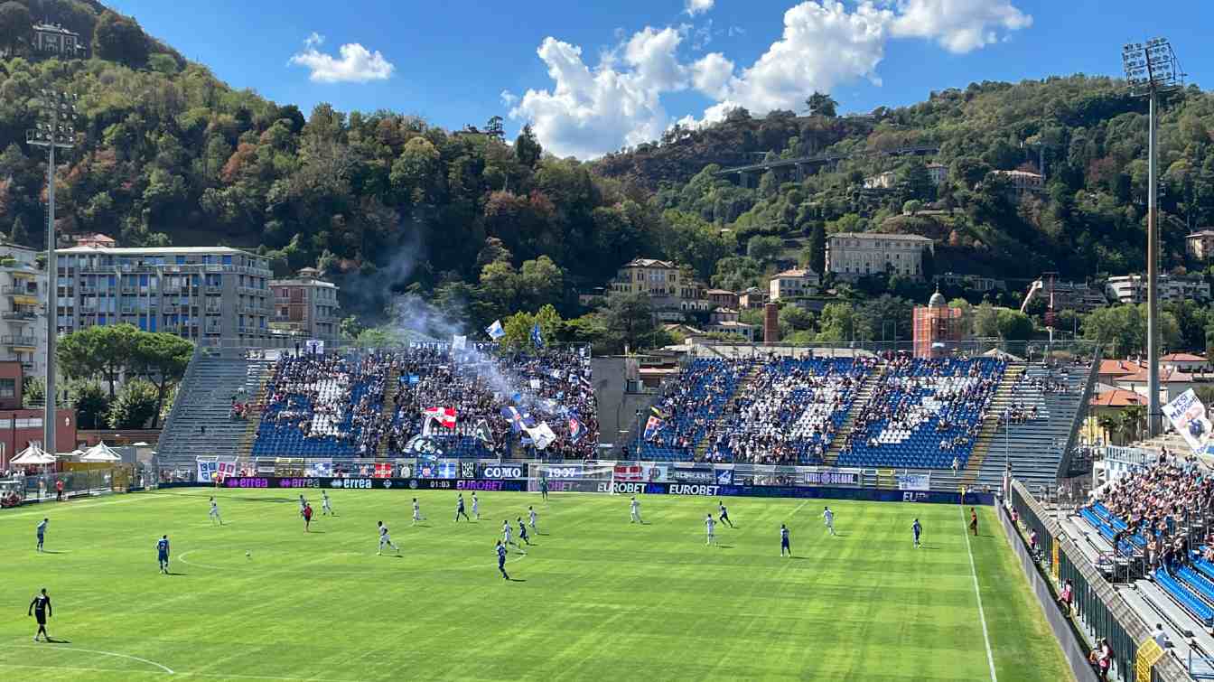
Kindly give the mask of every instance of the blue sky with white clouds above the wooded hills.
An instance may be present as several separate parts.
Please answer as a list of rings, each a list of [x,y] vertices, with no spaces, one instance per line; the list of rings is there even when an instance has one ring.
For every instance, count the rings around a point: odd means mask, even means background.
[[[1214,2],[1202,0],[1165,13],[1125,0],[110,5],[232,86],[305,113],[330,102],[444,127],[500,114],[509,133],[529,120],[546,148],[578,157],[733,106],[794,108],[815,89],[867,112],[974,80],[1116,75],[1122,44],[1155,35],[1190,81],[1214,72]]]

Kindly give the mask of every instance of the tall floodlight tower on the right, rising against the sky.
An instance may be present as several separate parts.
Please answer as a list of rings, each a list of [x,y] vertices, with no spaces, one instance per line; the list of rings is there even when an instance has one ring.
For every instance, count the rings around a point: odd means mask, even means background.
[[[1146,97],[1150,102],[1147,135],[1147,192],[1146,192],[1146,354],[1147,354],[1147,393],[1150,408],[1147,414],[1147,434],[1159,433],[1159,221],[1156,215],[1158,189],[1156,178],[1156,109],[1161,92],[1176,90],[1184,84],[1185,74],[1180,70],[1175,52],[1165,38],[1152,38],[1144,42],[1130,42],[1122,49],[1122,63],[1125,67],[1125,81],[1130,92]]]

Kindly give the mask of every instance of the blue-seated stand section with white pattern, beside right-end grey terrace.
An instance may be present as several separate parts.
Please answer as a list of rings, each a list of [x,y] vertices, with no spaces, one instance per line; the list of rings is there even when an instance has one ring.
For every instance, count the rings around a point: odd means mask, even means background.
[[[964,466],[1005,366],[999,358],[892,359],[853,417],[839,466]]]

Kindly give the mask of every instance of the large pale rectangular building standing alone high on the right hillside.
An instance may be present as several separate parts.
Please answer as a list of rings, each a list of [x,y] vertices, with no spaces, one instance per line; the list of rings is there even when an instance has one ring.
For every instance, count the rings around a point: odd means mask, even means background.
[[[918,234],[839,232],[827,238],[827,272],[851,282],[886,271],[918,279],[924,249],[935,254],[932,240]]]

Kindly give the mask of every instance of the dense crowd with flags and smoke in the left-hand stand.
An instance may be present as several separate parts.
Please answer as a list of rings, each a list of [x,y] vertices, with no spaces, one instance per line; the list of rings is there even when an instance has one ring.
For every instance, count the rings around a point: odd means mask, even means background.
[[[280,427],[296,428],[307,441],[337,445],[333,454],[418,454],[408,445],[424,432],[429,408],[455,410],[453,428],[430,431],[444,453],[504,454],[512,433],[501,414],[507,405],[556,433],[548,455],[592,459],[599,442],[590,362],[577,349],[510,356],[448,347],[348,357],[305,352],[279,358],[266,391],[259,441]],[[237,407],[233,402],[233,419]],[[578,438],[571,434],[571,415],[583,427]]]

